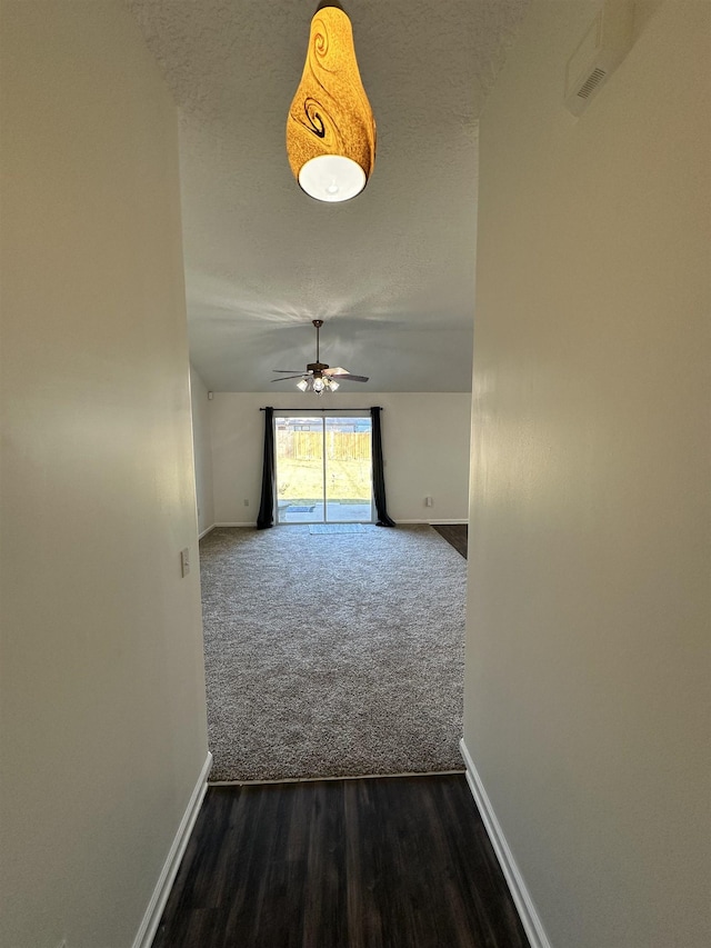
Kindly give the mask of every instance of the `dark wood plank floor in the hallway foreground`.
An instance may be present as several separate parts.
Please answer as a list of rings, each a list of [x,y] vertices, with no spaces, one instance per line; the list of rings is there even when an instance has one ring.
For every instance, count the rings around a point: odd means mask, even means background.
[[[528,948],[462,775],[210,787],[153,948]]]

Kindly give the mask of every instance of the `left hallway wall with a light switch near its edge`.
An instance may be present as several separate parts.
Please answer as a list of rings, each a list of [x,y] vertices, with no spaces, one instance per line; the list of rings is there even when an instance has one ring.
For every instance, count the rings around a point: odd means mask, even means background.
[[[207,725],[177,121],[120,2],[2,4],[3,948],[128,948]]]

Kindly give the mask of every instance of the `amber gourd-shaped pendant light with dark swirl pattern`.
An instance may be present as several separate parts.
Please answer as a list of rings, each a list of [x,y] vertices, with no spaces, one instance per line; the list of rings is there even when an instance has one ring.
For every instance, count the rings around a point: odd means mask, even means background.
[[[301,188],[319,201],[348,201],[375,162],[375,120],[358,71],[351,21],[338,0],[311,20],[301,82],[287,119],[287,153]]]

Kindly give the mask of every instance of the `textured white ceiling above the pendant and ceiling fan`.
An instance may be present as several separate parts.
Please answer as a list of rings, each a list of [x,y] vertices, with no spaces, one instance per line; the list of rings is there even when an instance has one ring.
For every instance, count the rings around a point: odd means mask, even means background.
[[[180,112],[191,360],[216,391],[471,387],[477,119],[528,0],[346,0],[378,124],[365,190],[307,197],[284,149],[316,0],[127,0]],[[336,396],[337,397],[337,396]],[[333,398],[333,396],[331,396]]]

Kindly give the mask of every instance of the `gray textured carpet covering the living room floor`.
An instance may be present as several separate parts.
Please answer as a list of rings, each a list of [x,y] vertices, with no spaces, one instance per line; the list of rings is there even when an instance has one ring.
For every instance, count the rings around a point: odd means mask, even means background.
[[[200,543],[210,779],[461,770],[467,563],[431,527]]]

